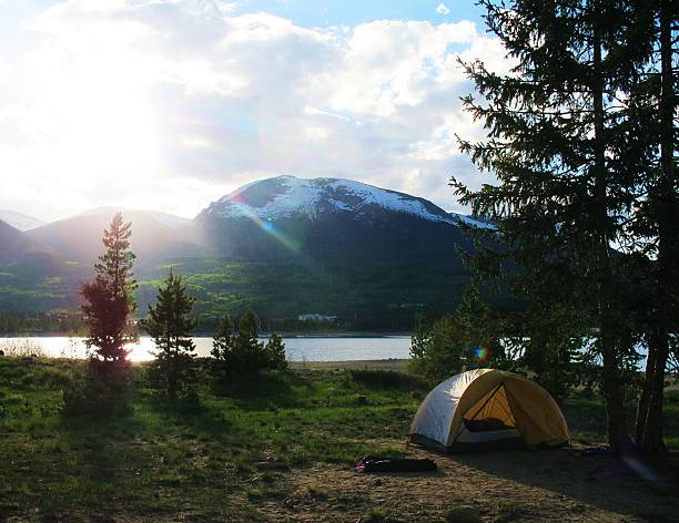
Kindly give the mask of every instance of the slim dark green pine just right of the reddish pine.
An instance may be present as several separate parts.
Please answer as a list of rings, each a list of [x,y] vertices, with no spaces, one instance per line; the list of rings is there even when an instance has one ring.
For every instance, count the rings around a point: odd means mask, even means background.
[[[152,377],[172,401],[191,383],[195,346],[190,336],[196,320],[189,315],[194,302],[195,298],[186,295],[181,277],[170,270],[143,322],[158,349]]]

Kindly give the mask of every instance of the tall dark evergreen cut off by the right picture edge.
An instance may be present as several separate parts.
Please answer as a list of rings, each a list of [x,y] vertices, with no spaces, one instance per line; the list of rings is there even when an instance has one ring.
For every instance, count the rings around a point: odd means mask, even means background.
[[[643,243],[636,247],[647,256],[648,300],[646,330],[648,359],[645,383],[639,399],[636,423],[637,444],[647,453],[665,450],[662,441],[662,401],[665,372],[670,361],[679,324],[679,197],[676,176],[677,151],[677,48],[672,31],[678,10],[671,0],[649,0],[643,3],[649,13],[649,37],[652,50],[639,74],[636,99],[638,104],[636,136],[643,136],[649,173],[646,197],[638,203],[641,219],[632,224]],[[646,103],[643,103],[646,102]],[[641,244],[641,245],[639,245]]]

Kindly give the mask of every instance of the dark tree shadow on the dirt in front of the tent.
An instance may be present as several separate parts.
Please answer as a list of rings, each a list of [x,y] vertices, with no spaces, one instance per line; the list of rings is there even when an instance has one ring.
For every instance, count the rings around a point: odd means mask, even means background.
[[[477,471],[544,489],[607,511],[679,521],[679,454],[645,464],[581,448],[442,455]],[[529,495],[526,493],[526,495]]]

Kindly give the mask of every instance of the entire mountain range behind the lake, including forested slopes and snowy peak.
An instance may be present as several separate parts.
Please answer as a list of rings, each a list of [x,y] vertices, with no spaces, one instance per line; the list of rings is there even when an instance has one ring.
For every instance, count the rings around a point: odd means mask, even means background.
[[[201,314],[254,305],[276,319],[449,307],[467,280],[458,249],[472,248],[460,225],[493,227],[405,193],[295,176],[244,185],[193,219],[104,207],[49,224],[24,216],[21,230],[0,212],[0,310],[75,307],[116,211],[132,222],[142,310],[174,265]]]

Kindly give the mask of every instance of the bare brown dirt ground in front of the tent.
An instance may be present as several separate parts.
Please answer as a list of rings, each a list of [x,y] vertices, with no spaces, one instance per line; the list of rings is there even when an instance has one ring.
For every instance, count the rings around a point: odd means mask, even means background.
[[[280,486],[293,494],[257,509],[266,520],[291,522],[443,522],[459,505],[494,522],[679,522],[678,455],[656,470],[586,455],[582,448],[458,455],[412,449],[409,455],[433,458],[438,472],[359,474],[317,465],[281,476]]]

